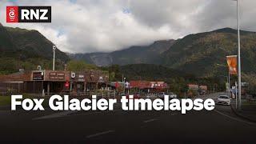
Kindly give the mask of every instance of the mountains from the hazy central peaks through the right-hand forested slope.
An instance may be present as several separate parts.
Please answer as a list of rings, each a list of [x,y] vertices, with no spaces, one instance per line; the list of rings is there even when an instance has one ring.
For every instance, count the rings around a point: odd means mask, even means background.
[[[240,31],[242,71],[256,72],[256,33]],[[226,55],[237,54],[237,30],[223,28],[190,34],[178,40],[157,41],[150,46],[131,46],[111,53],[74,54],[98,66],[158,64],[197,76],[226,74]],[[225,72],[225,73],[224,73]]]

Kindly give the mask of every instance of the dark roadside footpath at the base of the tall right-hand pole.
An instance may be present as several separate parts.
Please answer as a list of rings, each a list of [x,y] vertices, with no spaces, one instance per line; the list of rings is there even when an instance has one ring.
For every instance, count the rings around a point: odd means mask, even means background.
[[[235,100],[231,101],[230,106],[234,114],[238,115],[238,117],[244,118],[250,122],[256,122],[256,102],[242,100],[241,110],[236,109]]]

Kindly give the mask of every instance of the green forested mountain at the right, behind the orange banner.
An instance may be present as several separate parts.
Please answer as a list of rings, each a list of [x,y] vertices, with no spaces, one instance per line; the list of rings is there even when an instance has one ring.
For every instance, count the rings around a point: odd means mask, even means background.
[[[246,73],[256,72],[256,33],[240,31],[242,70]],[[237,54],[237,30],[223,28],[210,32],[189,34],[175,42],[165,54],[162,65],[173,69],[187,71],[197,76],[213,76],[226,71],[226,55]]]

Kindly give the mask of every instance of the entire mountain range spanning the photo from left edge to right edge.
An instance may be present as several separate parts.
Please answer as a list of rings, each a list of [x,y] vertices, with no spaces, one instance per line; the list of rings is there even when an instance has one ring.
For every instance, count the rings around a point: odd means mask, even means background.
[[[223,28],[190,34],[177,40],[156,41],[149,46],[131,46],[111,53],[66,54],[56,50],[56,66],[57,70],[62,70],[70,59],[97,66],[154,64],[199,77],[213,77],[226,75],[226,55],[237,54],[237,43],[237,30]],[[1,73],[10,74],[20,68],[34,70],[38,65],[43,69],[50,69],[52,46],[53,43],[37,30],[11,28],[0,24]],[[255,32],[241,30],[241,51],[242,72],[256,73]]]

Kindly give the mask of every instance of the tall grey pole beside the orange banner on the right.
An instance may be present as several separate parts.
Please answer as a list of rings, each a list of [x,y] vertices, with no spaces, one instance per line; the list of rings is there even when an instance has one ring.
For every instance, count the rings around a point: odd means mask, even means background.
[[[240,57],[240,22],[239,22],[239,0],[237,0],[238,17],[238,109],[241,110],[241,57]]]

